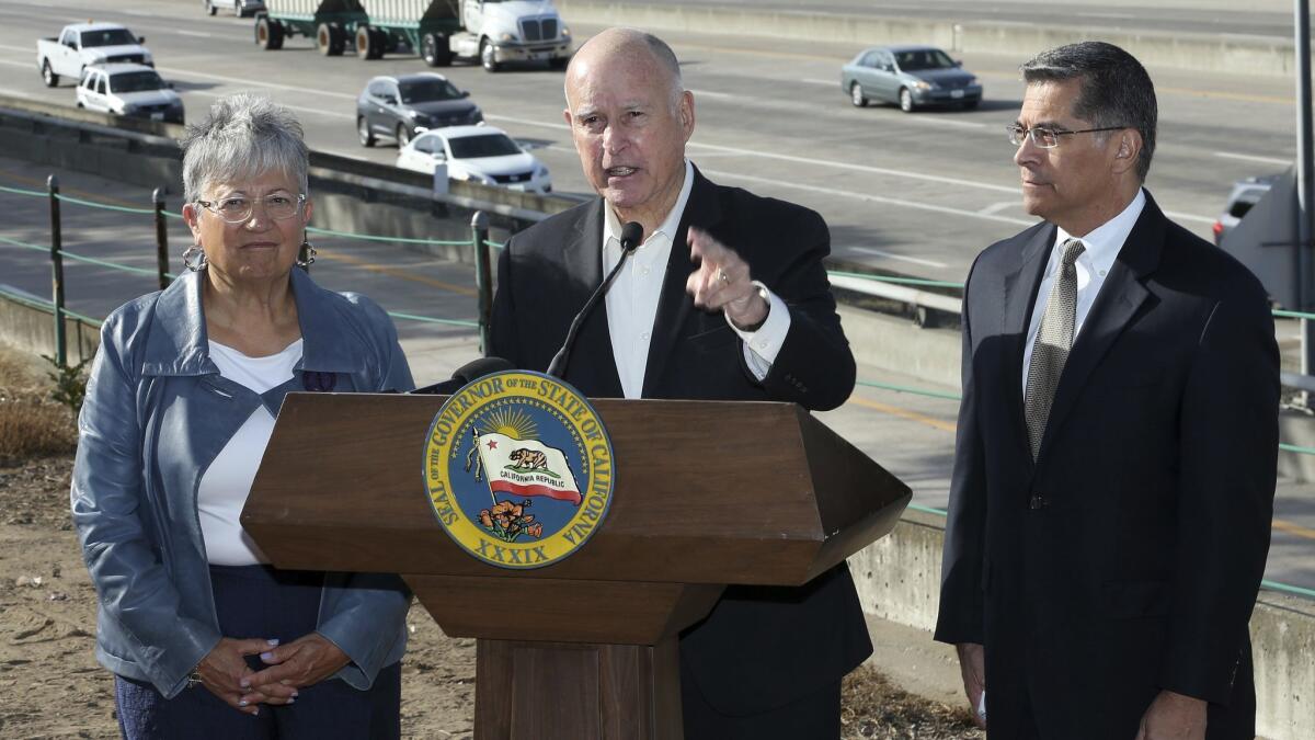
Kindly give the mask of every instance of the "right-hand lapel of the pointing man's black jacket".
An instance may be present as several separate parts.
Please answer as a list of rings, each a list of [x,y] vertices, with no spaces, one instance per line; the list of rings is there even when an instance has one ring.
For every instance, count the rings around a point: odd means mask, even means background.
[[[667,362],[676,350],[681,328],[694,309],[693,299],[685,294],[685,280],[694,270],[689,262],[689,226],[711,229],[722,217],[715,186],[701,175],[697,167],[693,171],[694,184],[671,242],[667,274],[663,277],[661,296],[658,299],[658,316],[654,320],[652,342],[648,345],[648,362],[644,366],[643,398],[654,396]]]

